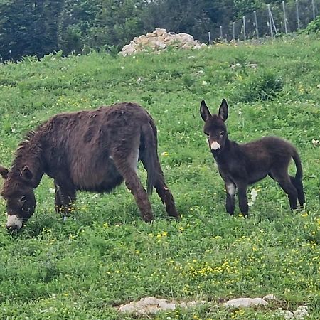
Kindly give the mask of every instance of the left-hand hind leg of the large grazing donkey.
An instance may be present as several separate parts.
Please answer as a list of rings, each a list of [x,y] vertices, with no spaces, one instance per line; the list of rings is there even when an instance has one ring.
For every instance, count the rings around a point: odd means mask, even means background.
[[[130,157],[126,158],[122,154],[114,154],[113,159],[117,170],[124,178],[124,183],[134,196],[142,219],[144,222],[150,222],[154,217],[152,215],[148,194],[137,175],[137,164],[134,168],[134,164],[130,161]]]

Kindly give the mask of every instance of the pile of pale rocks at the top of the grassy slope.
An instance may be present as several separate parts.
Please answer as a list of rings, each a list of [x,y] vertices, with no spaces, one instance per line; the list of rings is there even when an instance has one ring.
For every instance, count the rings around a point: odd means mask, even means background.
[[[134,37],[129,44],[122,48],[119,55],[133,55],[142,51],[160,51],[168,47],[181,49],[200,49],[206,47],[205,43],[194,40],[188,33],[167,32],[166,29],[156,28],[153,32],[146,35]]]

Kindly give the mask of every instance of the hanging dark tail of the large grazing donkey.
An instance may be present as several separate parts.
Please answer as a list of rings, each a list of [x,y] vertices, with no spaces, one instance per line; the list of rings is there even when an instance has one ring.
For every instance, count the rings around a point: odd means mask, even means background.
[[[147,171],[146,189],[148,193],[152,193],[153,187],[161,174],[159,172],[161,169],[158,158],[158,139],[153,121],[142,125],[139,159],[142,160]]]

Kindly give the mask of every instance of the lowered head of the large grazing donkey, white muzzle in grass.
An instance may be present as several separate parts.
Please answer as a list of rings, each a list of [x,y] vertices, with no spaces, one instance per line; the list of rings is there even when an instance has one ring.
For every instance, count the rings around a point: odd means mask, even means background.
[[[26,169],[23,169],[21,174],[16,174],[9,172],[1,166],[0,174],[4,178],[1,196],[6,201],[6,228],[9,230],[19,230],[33,215],[36,208],[33,188],[26,181],[26,179],[31,179],[32,176],[26,173]]]

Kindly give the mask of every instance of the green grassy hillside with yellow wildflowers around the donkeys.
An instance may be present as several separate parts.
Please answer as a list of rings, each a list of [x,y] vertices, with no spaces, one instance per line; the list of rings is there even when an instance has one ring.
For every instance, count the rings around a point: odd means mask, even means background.
[[[167,218],[154,194],[156,220],[145,224],[121,186],[109,195],[78,193],[76,212],[63,221],[54,213],[53,181],[44,177],[35,215],[10,235],[1,200],[0,318],[132,319],[114,306],[154,295],[208,304],[151,319],[283,319],[278,307],[301,305],[309,319],[320,319],[319,54],[319,40],[297,38],[0,65],[2,165],[10,166],[24,134],[53,114],[138,102],[156,120],[161,164],[182,215],[178,222]],[[250,219],[238,216],[238,206],[235,218],[225,213],[223,181],[199,114],[202,99],[215,111],[223,97],[230,139],[273,134],[297,146],[306,210],[290,212],[287,196],[266,178],[253,186]],[[279,302],[264,308],[213,307],[270,293]]]

